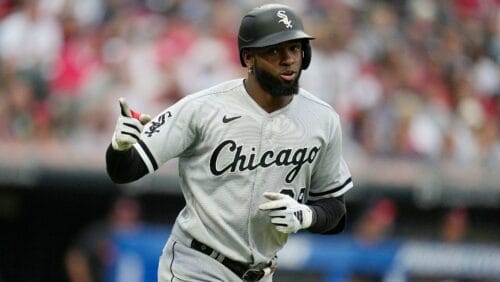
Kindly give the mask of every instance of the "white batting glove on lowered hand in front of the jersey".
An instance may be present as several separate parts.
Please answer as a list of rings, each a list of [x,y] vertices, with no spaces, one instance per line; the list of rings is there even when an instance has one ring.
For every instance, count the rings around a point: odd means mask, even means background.
[[[313,211],[288,195],[265,192],[263,196],[271,201],[261,204],[260,210],[269,210],[271,223],[282,233],[296,233],[311,226]]]

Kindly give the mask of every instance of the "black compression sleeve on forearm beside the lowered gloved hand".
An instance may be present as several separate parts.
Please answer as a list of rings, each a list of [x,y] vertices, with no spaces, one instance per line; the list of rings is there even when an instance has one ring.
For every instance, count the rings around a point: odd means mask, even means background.
[[[344,230],[346,206],[344,196],[329,198],[310,203],[313,210],[313,223],[309,227],[312,233],[336,234]]]

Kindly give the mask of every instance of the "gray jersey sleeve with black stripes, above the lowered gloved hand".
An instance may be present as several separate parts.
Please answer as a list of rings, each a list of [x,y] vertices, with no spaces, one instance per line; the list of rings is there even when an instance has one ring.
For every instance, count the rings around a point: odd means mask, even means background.
[[[351,173],[342,155],[340,120],[335,115],[329,141],[312,175],[308,202],[339,197],[352,187]]]

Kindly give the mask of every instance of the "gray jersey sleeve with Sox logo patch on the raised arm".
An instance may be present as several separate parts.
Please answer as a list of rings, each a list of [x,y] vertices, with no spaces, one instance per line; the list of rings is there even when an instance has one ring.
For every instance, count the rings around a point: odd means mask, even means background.
[[[195,104],[191,97],[185,97],[146,124],[141,140],[134,147],[149,173],[181,155],[192,144],[196,132]]]

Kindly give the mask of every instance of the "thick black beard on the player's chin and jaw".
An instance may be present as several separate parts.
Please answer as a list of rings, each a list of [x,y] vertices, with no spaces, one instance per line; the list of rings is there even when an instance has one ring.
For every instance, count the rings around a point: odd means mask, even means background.
[[[297,73],[297,77],[292,81],[283,81],[273,76],[271,73],[259,68],[254,68],[255,78],[260,87],[274,97],[290,96],[299,93],[299,78],[302,71]]]

